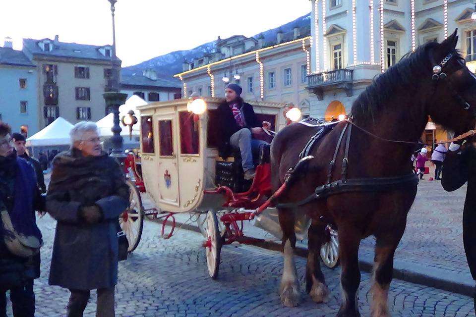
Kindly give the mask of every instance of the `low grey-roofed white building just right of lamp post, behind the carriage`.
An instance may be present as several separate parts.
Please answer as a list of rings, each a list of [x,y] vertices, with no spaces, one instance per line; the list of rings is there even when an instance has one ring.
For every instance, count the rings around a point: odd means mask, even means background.
[[[181,84],[177,79],[159,78],[154,69],[146,69],[142,73],[122,74],[120,92],[127,98],[137,95],[146,102],[168,101],[180,99]]]

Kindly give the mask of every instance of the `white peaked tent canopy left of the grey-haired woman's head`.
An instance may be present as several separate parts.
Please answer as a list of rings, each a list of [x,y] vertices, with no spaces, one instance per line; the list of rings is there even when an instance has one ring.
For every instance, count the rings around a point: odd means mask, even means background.
[[[41,147],[69,145],[69,131],[71,131],[72,127],[73,125],[71,123],[62,117],[58,117],[46,128],[26,139],[26,146]]]

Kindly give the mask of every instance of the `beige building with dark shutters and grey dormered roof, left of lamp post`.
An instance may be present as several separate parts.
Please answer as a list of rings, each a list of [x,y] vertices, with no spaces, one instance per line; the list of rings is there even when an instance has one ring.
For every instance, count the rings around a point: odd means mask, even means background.
[[[36,65],[39,126],[61,116],[71,123],[97,121],[106,112],[112,48],[54,40],[23,40],[23,53]]]

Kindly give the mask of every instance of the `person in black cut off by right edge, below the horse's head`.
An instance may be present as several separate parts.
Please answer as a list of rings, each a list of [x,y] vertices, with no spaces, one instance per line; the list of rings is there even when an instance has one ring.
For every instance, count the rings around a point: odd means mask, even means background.
[[[463,244],[471,275],[476,280],[476,143],[462,151],[458,144],[451,144],[442,168],[441,185],[446,191],[457,190],[468,182],[463,210]],[[476,309],[476,293],[474,295]]]

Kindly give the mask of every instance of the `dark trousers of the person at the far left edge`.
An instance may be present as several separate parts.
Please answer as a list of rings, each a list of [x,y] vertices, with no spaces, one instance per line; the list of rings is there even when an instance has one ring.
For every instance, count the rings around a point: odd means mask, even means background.
[[[10,300],[13,317],[34,317],[33,280],[28,281],[25,287],[10,289]],[[0,317],[6,317],[6,290],[0,290]]]

